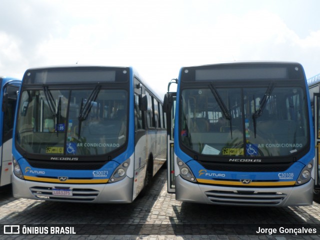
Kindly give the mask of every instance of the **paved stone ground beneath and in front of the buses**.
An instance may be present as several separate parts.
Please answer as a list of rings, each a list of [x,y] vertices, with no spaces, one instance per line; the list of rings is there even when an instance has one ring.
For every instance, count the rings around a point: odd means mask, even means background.
[[[79,204],[14,199],[0,189],[0,227],[74,226],[77,235],[0,235],[43,240],[313,240],[317,235],[254,235],[261,228],[318,228],[320,205],[299,208],[224,207],[181,203],[166,192],[160,170],[144,197],[132,204]],[[306,225],[307,224],[307,225]],[[310,226],[311,225],[311,226]],[[2,231],[2,230],[1,230]],[[3,233],[3,231],[0,233]],[[85,235],[89,233],[90,235]],[[78,235],[81,234],[81,235]]]

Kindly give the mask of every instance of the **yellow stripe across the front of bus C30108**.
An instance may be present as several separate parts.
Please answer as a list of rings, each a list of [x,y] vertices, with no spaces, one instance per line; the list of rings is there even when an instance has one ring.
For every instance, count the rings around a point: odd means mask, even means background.
[[[295,181],[289,182],[251,182],[249,184],[241,183],[240,181],[217,181],[207,179],[196,179],[199,183],[219,184],[219,185],[237,185],[237,186],[292,186]]]

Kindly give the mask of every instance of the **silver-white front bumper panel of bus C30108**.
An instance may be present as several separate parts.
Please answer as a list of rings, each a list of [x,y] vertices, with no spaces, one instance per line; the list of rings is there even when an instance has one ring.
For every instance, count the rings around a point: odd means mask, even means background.
[[[312,205],[313,185],[314,180],[311,179],[306,184],[297,187],[220,187],[191,183],[178,175],[175,177],[175,199],[181,202],[232,206],[309,206]],[[245,192],[252,193],[245,194]]]

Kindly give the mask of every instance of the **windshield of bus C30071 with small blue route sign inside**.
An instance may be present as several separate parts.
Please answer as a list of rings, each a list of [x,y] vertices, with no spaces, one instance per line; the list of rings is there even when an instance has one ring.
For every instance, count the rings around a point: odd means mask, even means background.
[[[102,155],[126,142],[125,90],[25,89],[19,109],[16,145],[29,154]]]

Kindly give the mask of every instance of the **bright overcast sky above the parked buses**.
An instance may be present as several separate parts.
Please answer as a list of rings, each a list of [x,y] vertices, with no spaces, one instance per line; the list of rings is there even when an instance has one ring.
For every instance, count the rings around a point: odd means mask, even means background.
[[[166,92],[181,66],[276,60],[320,73],[319,0],[0,0],[0,75],[133,66]]]

